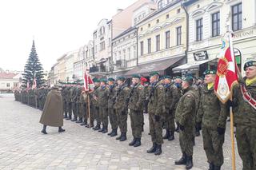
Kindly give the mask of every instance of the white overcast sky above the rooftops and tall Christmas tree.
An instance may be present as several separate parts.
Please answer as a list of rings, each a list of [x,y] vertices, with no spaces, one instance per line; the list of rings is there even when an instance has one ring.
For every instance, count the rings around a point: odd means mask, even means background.
[[[62,54],[86,45],[102,18],[136,0],[0,1],[0,68],[23,70],[33,38],[39,60],[50,70]]]

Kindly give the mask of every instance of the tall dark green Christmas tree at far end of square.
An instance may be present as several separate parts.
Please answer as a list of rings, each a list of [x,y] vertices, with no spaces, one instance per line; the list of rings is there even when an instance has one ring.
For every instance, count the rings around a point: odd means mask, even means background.
[[[26,87],[29,82],[30,87],[33,85],[34,79],[36,80],[37,87],[42,86],[45,83],[42,64],[39,61],[38,53],[35,50],[34,40],[30,52],[30,57],[26,61],[24,73],[22,73],[22,86]]]

